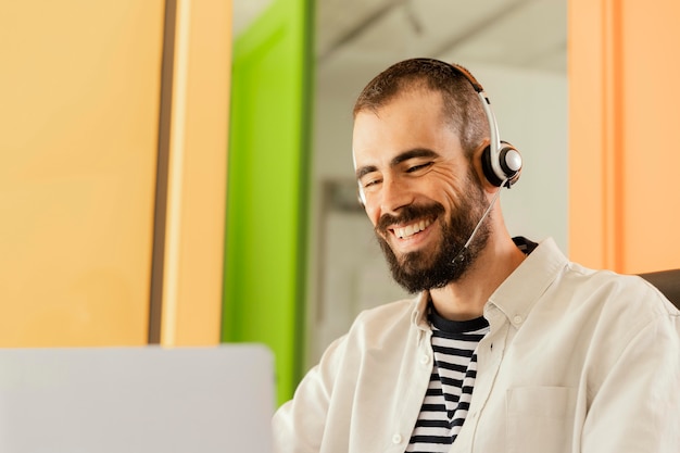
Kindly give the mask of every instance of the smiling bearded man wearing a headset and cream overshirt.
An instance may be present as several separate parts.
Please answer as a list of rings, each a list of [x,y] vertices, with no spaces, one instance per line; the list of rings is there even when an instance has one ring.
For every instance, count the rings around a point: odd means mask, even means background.
[[[678,452],[679,312],[639,277],[511,238],[518,152],[481,86],[398,63],[354,109],[360,198],[400,285],[274,417],[279,452]]]

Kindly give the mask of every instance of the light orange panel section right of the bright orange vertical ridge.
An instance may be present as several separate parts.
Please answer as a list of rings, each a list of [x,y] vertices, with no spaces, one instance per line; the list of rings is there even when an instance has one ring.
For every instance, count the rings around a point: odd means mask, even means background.
[[[624,266],[680,267],[680,3],[622,4]]]

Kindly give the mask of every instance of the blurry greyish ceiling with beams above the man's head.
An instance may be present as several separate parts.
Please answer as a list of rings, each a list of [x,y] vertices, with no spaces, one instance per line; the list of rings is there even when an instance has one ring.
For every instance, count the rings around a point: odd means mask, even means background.
[[[273,0],[234,0],[235,34]],[[433,56],[566,73],[567,0],[317,0],[322,83],[366,81],[391,63]],[[361,71],[357,68],[361,67]]]

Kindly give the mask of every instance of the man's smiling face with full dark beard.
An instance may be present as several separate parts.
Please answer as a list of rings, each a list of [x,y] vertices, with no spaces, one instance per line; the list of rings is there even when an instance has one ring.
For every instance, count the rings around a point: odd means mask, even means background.
[[[378,112],[360,112],[354,122],[366,213],[392,276],[411,292],[458,279],[489,236],[483,224],[456,260],[488,201],[442,112],[439,93],[417,90]]]

